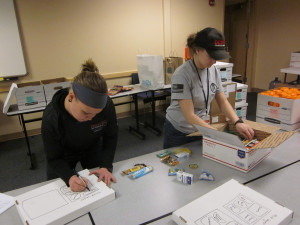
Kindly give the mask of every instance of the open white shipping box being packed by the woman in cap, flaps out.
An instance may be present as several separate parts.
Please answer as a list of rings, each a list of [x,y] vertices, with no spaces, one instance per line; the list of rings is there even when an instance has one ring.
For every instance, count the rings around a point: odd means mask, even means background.
[[[295,133],[295,131],[275,133],[278,127],[248,120],[244,122],[252,127],[255,132],[254,138],[260,141],[250,149],[246,148],[241,138],[235,135],[237,131],[233,124],[228,124],[226,128],[230,133],[194,125],[203,136],[202,156],[247,173],[265,159],[272,148]]]

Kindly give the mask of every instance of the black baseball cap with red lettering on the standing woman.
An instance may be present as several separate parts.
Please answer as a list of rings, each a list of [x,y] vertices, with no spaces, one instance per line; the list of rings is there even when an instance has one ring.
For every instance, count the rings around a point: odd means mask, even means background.
[[[215,60],[231,58],[225,50],[225,36],[215,28],[207,27],[196,35],[195,44],[204,48]]]

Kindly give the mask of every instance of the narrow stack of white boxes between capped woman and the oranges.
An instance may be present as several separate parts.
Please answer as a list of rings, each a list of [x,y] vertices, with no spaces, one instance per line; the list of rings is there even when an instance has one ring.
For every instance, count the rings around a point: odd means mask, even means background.
[[[247,84],[236,83],[236,98],[235,98],[235,111],[238,117],[246,119],[247,116]]]

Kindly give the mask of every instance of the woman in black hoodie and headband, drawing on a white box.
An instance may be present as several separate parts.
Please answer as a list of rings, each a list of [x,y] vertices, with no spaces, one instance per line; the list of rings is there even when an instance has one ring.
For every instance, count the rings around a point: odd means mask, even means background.
[[[62,178],[72,191],[83,191],[88,180],[79,179],[74,170],[95,168],[108,186],[116,182],[112,162],[118,139],[115,107],[107,95],[107,85],[92,60],[72,87],[58,91],[47,105],[42,121],[42,137],[47,159],[47,178]]]

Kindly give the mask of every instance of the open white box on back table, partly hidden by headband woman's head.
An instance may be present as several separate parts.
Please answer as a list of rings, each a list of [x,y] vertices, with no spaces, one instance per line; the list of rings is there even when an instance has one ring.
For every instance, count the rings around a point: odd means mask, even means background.
[[[42,80],[41,82],[44,84],[47,105],[51,102],[53,95],[58,90],[71,87],[71,82],[64,77]]]

